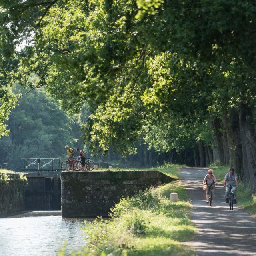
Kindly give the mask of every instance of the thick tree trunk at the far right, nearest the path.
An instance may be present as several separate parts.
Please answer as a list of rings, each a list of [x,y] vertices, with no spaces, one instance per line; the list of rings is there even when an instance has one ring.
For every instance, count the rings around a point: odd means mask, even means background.
[[[243,179],[256,192],[256,134],[252,109],[240,104],[239,126],[243,150]]]

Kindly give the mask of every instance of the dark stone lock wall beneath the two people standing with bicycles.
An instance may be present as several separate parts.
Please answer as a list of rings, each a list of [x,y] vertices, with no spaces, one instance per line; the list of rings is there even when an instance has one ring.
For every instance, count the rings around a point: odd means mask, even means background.
[[[122,196],[173,180],[154,170],[62,172],[62,217],[106,217]]]

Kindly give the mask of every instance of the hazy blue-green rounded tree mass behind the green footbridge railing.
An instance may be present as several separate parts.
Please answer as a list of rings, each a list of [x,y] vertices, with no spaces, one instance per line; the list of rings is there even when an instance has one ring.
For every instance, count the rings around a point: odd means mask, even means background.
[[[15,94],[24,93],[16,85]],[[78,116],[66,114],[44,88],[31,91],[18,100],[6,125],[10,136],[0,139],[0,161],[8,168],[24,168],[21,158],[53,158],[66,155],[66,144],[81,147]]]

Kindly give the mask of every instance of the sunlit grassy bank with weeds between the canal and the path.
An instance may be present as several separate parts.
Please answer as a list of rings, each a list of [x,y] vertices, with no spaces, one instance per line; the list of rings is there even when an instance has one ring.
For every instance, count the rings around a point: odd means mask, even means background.
[[[161,171],[178,177],[178,168],[165,166]],[[178,202],[170,203],[171,192],[178,192]],[[194,255],[182,243],[195,236],[189,219],[190,208],[186,188],[181,186],[180,180],[122,198],[112,209],[110,219],[97,218],[86,223],[83,228],[86,246],[77,255]]]

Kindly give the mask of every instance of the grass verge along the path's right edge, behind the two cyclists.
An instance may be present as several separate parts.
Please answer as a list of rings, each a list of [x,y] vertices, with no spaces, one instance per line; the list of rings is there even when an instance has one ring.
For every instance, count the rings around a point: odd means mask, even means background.
[[[212,166],[216,178],[220,182],[224,182],[224,176],[229,170],[229,166]],[[244,183],[240,182],[239,187],[236,189],[237,204],[244,208],[247,212],[256,215],[256,194],[251,194],[249,188],[245,188]]]

